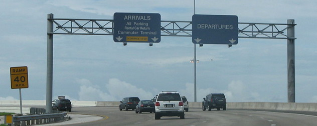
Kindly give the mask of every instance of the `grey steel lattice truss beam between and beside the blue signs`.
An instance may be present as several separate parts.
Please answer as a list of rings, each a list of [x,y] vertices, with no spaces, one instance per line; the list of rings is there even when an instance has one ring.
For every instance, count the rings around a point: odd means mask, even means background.
[[[113,35],[113,19],[49,19],[54,22],[48,34]],[[287,35],[287,23],[238,23],[239,38],[296,39]],[[161,36],[192,36],[192,21],[161,21]]]

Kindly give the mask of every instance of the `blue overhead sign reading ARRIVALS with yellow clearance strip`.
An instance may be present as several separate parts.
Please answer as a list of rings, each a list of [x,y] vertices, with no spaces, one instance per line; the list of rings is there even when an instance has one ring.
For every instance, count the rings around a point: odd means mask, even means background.
[[[113,14],[113,40],[115,42],[160,42],[160,13]]]

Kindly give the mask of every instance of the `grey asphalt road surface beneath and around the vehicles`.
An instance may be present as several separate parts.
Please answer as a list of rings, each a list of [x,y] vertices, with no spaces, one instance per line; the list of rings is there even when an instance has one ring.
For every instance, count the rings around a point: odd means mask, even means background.
[[[69,125],[316,125],[317,116],[267,112],[254,110],[212,110],[203,111],[190,108],[185,119],[180,117],[161,117],[155,120],[154,113],[135,113],[134,110],[122,110],[118,107],[73,107],[72,112],[103,116],[104,119]]]

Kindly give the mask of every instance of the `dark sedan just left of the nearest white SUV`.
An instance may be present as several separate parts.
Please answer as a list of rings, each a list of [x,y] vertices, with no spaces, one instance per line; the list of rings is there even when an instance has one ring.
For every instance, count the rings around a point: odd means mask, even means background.
[[[135,107],[135,113],[155,112],[155,104],[152,100],[141,100]]]

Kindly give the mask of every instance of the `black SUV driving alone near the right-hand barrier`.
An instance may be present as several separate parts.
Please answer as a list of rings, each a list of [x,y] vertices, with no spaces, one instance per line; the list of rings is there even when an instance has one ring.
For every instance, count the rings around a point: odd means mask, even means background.
[[[204,98],[203,101],[203,110],[211,110],[212,108],[217,108],[217,110],[220,110],[222,108],[223,110],[227,109],[227,100],[225,97],[225,94],[223,93],[209,93],[207,94],[206,98]]]

